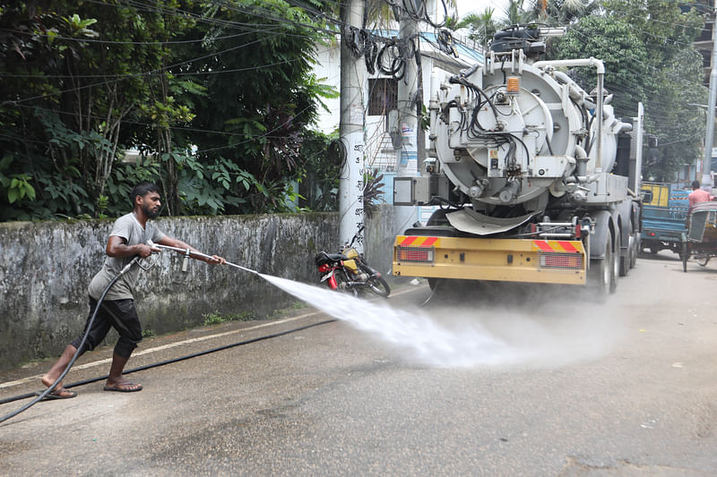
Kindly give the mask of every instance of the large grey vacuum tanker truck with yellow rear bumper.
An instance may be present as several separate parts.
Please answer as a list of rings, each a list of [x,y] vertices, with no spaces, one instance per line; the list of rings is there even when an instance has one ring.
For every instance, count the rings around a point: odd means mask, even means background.
[[[583,285],[614,292],[639,250],[642,126],[609,105],[599,59],[541,61],[557,29],[497,33],[484,63],[431,98],[430,147],[394,205],[438,205],[395,239],[393,275]],[[566,72],[591,68],[581,88]],[[640,105],[642,106],[642,105]]]

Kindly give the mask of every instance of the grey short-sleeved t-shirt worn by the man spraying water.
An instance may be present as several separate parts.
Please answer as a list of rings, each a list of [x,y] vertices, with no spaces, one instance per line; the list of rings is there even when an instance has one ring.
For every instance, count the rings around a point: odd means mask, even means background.
[[[156,226],[147,222],[146,230],[137,221],[137,217],[130,212],[129,214],[117,218],[115,225],[112,226],[112,231],[109,236],[117,235],[125,239],[127,245],[136,245],[137,243],[147,243],[148,240],[152,242],[160,242],[165,237],[165,234],[161,233]],[[95,300],[99,300],[102,293],[105,291],[109,282],[112,278],[117,277],[117,274],[125,268],[127,263],[132,261],[134,257],[125,257],[124,259],[107,257],[102,269],[99,270],[97,275],[92,278],[88,292],[90,296]],[[125,275],[123,275],[112,288],[109,289],[105,300],[124,300],[126,298],[134,299],[134,285],[137,283],[137,277],[140,275],[140,268],[134,266],[129,269]]]

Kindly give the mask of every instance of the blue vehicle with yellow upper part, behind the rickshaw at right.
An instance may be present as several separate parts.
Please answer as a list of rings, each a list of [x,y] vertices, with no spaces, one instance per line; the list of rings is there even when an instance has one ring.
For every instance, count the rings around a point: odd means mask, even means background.
[[[671,250],[682,254],[682,242],[687,233],[687,209],[690,190],[683,184],[643,183],[641,251],[655,254]]]

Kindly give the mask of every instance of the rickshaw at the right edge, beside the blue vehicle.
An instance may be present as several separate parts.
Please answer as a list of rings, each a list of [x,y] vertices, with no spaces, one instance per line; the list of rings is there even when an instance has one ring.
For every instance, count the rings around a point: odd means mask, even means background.
[[[687,233],[682,238],[682,268],[694,257],[704,267],[717,256],[717,202],[701,202],[687,216]]]

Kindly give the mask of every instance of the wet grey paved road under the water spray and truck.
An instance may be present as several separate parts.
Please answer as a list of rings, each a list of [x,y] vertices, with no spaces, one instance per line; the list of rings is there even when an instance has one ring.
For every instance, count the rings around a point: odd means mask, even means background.
[[[405,340],[420,329],[388,343],[344,321],[307,328],[135,373],[140,393],[96,382],[39,403],[0,425],[0,474],[715,475],[715,285],[717,264],[685,274],[661,252],[604,305],[510,286],[419,311],[427,287],[404,288],[392,306],[453,331],[464,360],[419,359]],[[327,319],[295,314],[145,340],[130,366]],[[106,373],[110,351],[67,382]],[[19,382],[0,398],[46,366],[0,375]]]

